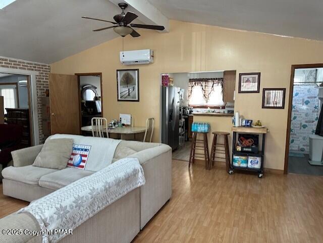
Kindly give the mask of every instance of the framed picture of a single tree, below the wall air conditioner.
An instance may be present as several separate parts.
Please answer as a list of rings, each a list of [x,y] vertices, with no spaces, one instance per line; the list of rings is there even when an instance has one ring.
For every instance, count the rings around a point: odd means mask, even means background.
[[[117,70],[118,101],[139,101],[139,69]]]

